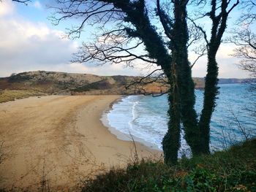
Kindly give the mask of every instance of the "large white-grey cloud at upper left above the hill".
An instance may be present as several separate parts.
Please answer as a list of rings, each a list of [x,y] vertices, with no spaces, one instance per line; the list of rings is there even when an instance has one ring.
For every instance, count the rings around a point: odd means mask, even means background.
[[[0,77],[12,72],[51,70],[66,65],[77,50],[77,43],[62,39],[63,32],[45,23],[32,23],[20,15],[5,17],[14,5],[3,1],[0,15]]]

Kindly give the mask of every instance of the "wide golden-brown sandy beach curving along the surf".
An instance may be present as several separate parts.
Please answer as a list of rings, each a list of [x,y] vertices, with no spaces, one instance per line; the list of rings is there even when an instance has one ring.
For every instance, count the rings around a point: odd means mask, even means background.
[[[119,97],[42,96],[0,104],[0,188],[76,191],[86,177],[131,161],[133,142],[117,139],[99,120]],[[160,154],[135,145],[140,158]]]

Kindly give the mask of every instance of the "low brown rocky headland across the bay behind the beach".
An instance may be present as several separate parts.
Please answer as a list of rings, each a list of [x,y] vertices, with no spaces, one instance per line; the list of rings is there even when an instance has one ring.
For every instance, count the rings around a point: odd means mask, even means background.
[[[141,77],[134,76],[98,76],[94,74],[72,74],[64,72],[23,72],[0,78],[0,90],[33,90],[46,94],[135,94],[162,93],[167,85],[153,82],[148,85],[128,85],[138,82]],[[204,78],[195,77],[195,88],[204,88]],[[220,79],[219,83],[241,83],[240,79]]]

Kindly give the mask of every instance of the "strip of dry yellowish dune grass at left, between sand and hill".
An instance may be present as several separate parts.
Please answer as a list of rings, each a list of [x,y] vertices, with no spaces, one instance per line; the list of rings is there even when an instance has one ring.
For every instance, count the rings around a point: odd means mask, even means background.
[[[45,93],[36,89],[31,90],[3,90],[0,91],[0,103],[14,101],[15,99],[23,99],[29,96],[43,96]]]

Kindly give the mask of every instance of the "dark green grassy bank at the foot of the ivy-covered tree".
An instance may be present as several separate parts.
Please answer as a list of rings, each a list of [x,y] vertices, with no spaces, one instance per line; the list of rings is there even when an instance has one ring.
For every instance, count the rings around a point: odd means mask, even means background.
[[[176,166],[142,160],[85,180],[82,191],[256,191],[255,157],[253,139]]]

